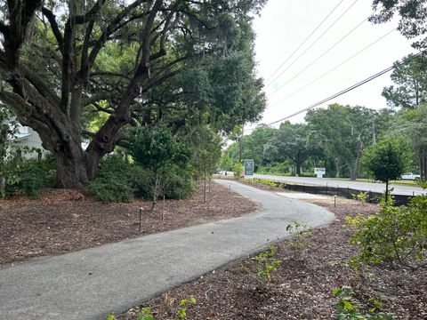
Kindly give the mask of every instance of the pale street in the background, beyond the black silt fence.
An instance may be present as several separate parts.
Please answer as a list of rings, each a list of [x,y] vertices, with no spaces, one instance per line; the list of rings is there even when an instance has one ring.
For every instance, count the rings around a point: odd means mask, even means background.
[[[276,181],[289,181],[292,183],[305,183],[310,185],[324,186],[326,187],[340,187],[340,188],[354,188],[360,191],[372,191],[383,193],[385,191],[385,183],[372,183],[372,182],[360,182],[350,180],[333,180],[328,178],[304,178],[304,177],[283,177],[270,174],[255,174],[256,178],[270,179]],[[427,190],[419,188],[417,186],[404,186],[399,184],[391,185],[394,190],[391,192],[393,195],[404,195],[404,196],[417,196],[427,193]]]

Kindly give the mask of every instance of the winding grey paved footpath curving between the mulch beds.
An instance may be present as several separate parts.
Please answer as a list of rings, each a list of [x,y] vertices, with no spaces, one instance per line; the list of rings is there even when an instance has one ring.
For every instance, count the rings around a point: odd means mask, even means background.
[[[334,220],[313,204],[217,182],[262,204],[246,216],[0,269],[0,318],[102,319],[284,238],[293,220]],[[73,235],[69,235],[73,236]]]

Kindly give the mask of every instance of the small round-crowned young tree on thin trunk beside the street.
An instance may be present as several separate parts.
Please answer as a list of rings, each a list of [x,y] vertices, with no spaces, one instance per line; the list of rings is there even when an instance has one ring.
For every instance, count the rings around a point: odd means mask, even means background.
[[[405,172],[410,159],[408,140],[392,137],[367,148],[363,164],[372,172],[375,180],[385,183],[385,199],[389,196],[389,182],[398,180]]]

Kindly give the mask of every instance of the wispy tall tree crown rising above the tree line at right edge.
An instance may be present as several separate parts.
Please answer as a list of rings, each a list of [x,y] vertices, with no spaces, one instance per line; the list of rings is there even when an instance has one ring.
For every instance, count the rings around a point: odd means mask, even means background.
[[[392,108],[415,108],[427,100],[427,59],[409,54],[405,60],[408,61],[403,65],[395,62],[396,68],[391,73],[396,85],[383,89],[383,97]]]

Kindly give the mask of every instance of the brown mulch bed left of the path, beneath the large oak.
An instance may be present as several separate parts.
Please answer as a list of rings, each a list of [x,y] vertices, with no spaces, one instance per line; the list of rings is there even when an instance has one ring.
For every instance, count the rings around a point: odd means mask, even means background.
[[[203,188],[187,200],[159,201],[150,212],[149,201],[101,204],[77,190],[51,189],[39,199],[0,200],[0,266],[36,256],[78,251],[125,238],[230,219],[254,212],[258,204],[211,183],[207,202]],[[139,207],[142,228],[139,231]]]

